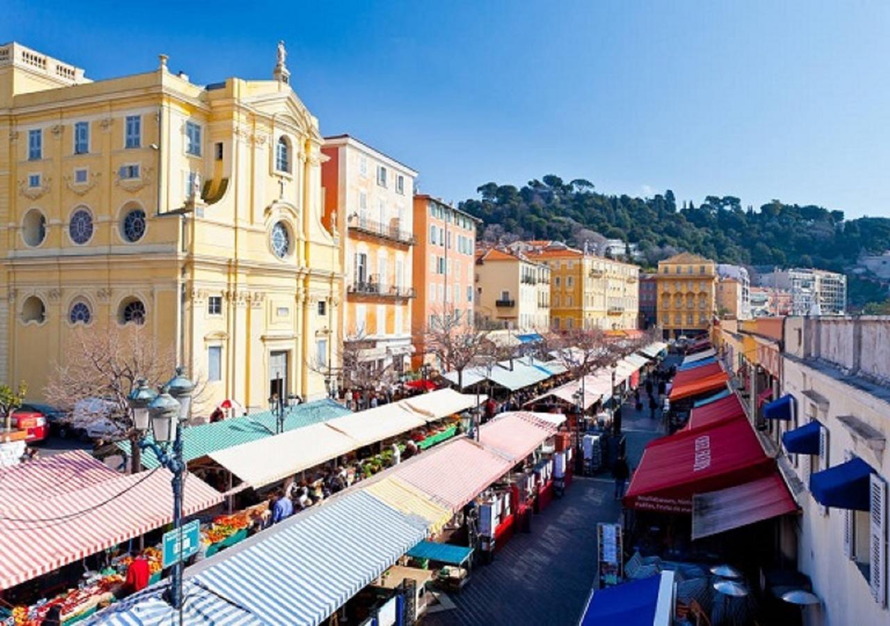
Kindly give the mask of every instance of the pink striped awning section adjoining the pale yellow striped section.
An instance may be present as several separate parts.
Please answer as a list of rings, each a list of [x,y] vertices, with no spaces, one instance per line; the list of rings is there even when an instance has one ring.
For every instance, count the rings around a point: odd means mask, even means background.
[[[392,476],[457,511],[504,476],[512,466],[512,461],[486,450],[479,443],[457,439],[401,464]]]

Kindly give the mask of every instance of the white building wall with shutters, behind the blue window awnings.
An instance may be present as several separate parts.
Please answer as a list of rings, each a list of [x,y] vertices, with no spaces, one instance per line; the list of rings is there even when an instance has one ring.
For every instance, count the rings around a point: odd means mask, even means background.
[[[852,454],[890,482],[890,451],[876,449],[838,419],[854,416],[890,439],[890,387],[873,384],[879,382],[875,375],[890,370],[887,332],[890,318],[789,318],[785,323],[781,394],[793,395],[797,406],[797,425],[789,428],[817,419],[827,429],[829,452],[824,465],[834,467]],[[816,361],[817,357],[821,360]],[[846,372],[864,373],[856,367],[864,364],[863,359],[869,363],[883,359],[879,369],[866,365],[873,372],[868,379],[845,378],[848,374],[827,364],[835,362]],[[819,457],[795,456],[789,455],[806,487],[797,498],[803,508],[798,520],[798,569],[810,576],[813,591],[822,601],[820,607],[810,610],[808,623],[890,624],[890,612],[872,598],[869,581],[845,554],[845,511],[829,508],[826,512],[808,490],[811,472],[820,467]],[[888,506],[886,502],[884,506]],[[885,580],[890,576],[886,560]]]

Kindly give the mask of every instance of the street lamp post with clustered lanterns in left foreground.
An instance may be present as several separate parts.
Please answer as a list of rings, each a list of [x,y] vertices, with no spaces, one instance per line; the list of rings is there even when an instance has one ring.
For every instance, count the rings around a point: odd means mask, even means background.
[[[188,423],[191,410],[191,394],[195,384],[176,368],[176,375],[155,393],[145,380],[140,380],[136,388],[128,396],[130,409],[133,411],[134,427],[143,434],[148,431],[149,422],[154,441],[140,439],[141,450],[154,452],[162,467],[173,474],[173,524],[179,533],[179,545],[182,545],[182,478],[185,474],[185,462],[182,459],[182,427]],[[171,446],[172,441],[172,446]],[[182,558],[173,566],[167,599],[179,612],[182,623]]]

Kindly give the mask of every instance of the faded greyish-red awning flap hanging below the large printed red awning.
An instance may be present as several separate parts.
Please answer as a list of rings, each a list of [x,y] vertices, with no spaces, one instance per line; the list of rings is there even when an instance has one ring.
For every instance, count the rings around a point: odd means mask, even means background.
[[[779,472],[692,498],[692,540],[797,512]]]

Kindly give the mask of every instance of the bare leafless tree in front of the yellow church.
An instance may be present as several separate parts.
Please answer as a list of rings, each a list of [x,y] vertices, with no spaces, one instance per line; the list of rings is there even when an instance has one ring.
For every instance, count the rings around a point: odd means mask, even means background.
[[[135,430],[127,396],[137,381],[145,378],[158,387],[172,375],[176,364],[173,346],[156,349],[148,329],[135,324],[111,326],[99,332],[77,329],[66,348],[66,362],[57,364],[47,383],[46,399],[67,411],[77,402],[93,402],[95,413],[89,419],[109,419],[117,428],[117,440],[128,439],[132,451],[132,471],[141,468],[140,434]],[[194,375],[192,374],[192,378]],[[200,402],[196,384],[192,404]]]

